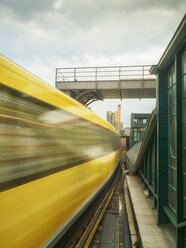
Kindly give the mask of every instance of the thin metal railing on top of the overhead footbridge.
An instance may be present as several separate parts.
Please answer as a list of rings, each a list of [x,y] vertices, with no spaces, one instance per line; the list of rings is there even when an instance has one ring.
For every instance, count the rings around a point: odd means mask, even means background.
[[[57,68],[56,82],[154,79],[151,65]]]

